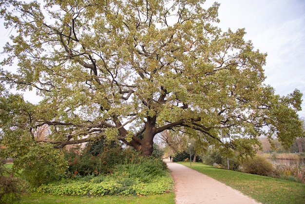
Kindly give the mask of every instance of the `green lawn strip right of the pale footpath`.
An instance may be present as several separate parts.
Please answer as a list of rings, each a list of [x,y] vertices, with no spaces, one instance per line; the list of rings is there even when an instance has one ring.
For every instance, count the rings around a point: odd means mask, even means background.
[[[190,167],[190,163],[179,163]],[[305,184],[220,169],[202,163],[192,163],[191,168],[263,204],[305,204]]]

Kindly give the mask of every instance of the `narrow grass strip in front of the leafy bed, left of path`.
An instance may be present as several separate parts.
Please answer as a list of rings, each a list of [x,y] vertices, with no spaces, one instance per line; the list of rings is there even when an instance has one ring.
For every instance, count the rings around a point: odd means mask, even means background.
[[[174,192],[140,197],[79,197],[53,196],[49,194],[28,194],[22,197],[20,204],[175,204]]]

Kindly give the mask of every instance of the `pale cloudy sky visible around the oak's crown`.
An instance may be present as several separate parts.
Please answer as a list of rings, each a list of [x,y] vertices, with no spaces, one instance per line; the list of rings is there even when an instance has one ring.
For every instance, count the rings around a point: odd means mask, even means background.
[[[215,0],[207,0],[212,4]],[[304,0],[218,0],[219,27],[226,31],[245,28],[246,40],[268,54],[264,67],[266,84],[281,96],[299,89],[305,94],[305,1]],[[0,20],[0,47],[8,33]],[[26,100],[37,102],[33,94]],[[36,99],[36,100],[35,100]],[[34,100],[34,101],[33,101]],[[305,96],[303,97],[305,101]],[[305,102],[300,117],[305,117]]]

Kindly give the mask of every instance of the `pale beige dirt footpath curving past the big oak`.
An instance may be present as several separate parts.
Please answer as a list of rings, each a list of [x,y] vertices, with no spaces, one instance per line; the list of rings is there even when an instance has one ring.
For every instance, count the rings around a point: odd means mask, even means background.
[[[241,192],[191,168],[165,162],[172,171],[176,204],[259,204]]]

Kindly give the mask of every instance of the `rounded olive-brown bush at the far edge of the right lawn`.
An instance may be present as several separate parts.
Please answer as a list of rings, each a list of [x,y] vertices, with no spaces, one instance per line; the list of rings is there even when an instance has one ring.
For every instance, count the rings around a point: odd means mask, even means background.
[[[272,163],[261,155],[256,155],[254,158],[248,157],[242,163],[243,171],[250,174],[262,176],[269,175],[273,170]]]

